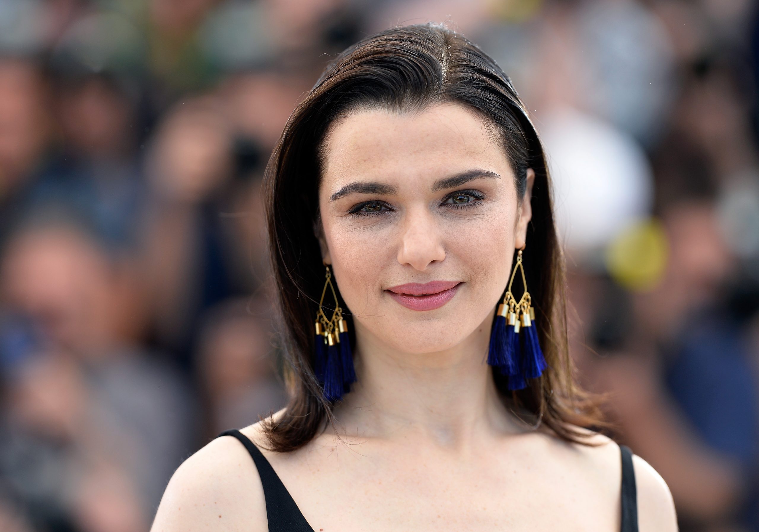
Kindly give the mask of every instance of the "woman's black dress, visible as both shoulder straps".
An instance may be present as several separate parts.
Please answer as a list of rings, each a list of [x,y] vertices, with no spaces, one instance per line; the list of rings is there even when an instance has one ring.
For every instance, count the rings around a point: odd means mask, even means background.
[[[298,509],[285,484],[272,468],[258,447],[237,429],[229,429],[218,437],[234,436],[247,449],[258,468],[266,499],[266,519],[269,532],[314,532],[313,528]],[[635,471],[632,468],[632,452],[621,445],[622,455],[622,528],[621,532],[638,532],[638,502],[635,493]]]

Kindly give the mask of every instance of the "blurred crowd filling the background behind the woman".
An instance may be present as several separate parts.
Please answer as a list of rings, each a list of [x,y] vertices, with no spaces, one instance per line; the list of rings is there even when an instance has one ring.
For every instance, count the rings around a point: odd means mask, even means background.
[[[759,530],[756,11],[0,0],[0,530],[146,530],[184,458],[285,405],[263,168],[330,58],[427,20],[531,110],[613,437],[684,532]]]

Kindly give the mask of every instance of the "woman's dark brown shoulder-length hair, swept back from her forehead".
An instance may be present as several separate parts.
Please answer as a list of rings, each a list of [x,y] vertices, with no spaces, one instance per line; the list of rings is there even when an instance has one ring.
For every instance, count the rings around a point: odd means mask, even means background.
[[[535,171],[523,264],[540,346],[550,368],[530,380],[527,388],[515,391],[508,390],[507,377],[493,371],[502,399],[512,408],[537,416],[568,441],[590,445],[583,440],[584,432],[571,424],[609,425],[597,404],[600,396],[591,396],[574,383],[568,355],[564,256],[556,237],[543,146],[528,110],[509,77],[477,45],[442,24],[422,23],[368,36],[332,60],[291,114],[266,167],[269,252],[285,383],[291,393],[279,420],[263,420],[272,450],[298,449],[317,435],[323,421],[334,420],[333,405],[324,398],[313,371],[313,320],[324,284],[313,227],[319,216],[322,149],[328,127],[359,109],[417,112],[446,102],[465,105],[484,118],[509,155],[520,202],[528,167]],[[345,308],[342,301],[341,305]],[[355,345],[354,327],[349,330]]]

